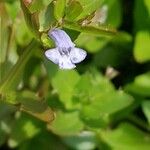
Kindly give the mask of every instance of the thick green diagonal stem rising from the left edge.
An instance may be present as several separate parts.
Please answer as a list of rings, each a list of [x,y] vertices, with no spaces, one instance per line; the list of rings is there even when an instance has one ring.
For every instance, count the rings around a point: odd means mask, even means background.
[[[28,47],[24,50],[23,54],[19,57],[17,63],[10,70],[7,76],[3,79],[0,84],[0,93],[3,94],[11,88],[16,88],[21,73],[23,72],[24,66],[32,56],[34,50],[37,48],[37,42],[32,40]],[[19,76],[20,75],[20,76]]]

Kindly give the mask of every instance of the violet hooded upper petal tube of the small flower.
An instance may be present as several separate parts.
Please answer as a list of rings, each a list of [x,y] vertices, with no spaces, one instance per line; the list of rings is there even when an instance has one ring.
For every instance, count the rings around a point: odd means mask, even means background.
[[[56,47],[70,48],[75,46],[71,38],[63,30],[53,29],[49,31],[48,35],[54,40]]]

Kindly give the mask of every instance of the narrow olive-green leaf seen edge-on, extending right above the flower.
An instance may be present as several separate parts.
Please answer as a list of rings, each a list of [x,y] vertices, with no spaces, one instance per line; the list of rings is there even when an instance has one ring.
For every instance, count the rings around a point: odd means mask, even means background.
[[[93,25],[79,25],[72,22],[64,22],[64,27],[72,30],[76,30],[83,33],[89,33],[97,36],[115,35],[116,30],[111,29],[108,26],[93,26]]]

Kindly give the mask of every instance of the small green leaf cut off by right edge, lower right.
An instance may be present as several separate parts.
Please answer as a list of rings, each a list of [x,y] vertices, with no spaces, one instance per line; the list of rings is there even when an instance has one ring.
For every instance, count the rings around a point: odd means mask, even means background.
[[[150,125],[150,101],[149,100],[145,100],[142,102],[142,109]]]

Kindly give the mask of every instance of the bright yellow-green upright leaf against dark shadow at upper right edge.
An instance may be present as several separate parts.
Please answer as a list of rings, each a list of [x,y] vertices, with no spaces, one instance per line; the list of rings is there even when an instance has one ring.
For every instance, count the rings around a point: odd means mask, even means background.
[[[134,45],[134,57],[138,62],[144,63],[150,60],[150,32],[139,31],[136,34]]]

